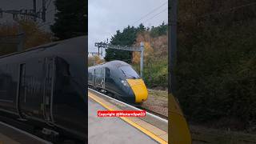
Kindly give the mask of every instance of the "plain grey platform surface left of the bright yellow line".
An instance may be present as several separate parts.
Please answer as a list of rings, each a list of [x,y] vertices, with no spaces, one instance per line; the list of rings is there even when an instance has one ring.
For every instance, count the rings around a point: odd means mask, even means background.
[[[89,143],[158,143],[121,118],[99,118],[98,110],[106,110],[88,98],[88,141]]]

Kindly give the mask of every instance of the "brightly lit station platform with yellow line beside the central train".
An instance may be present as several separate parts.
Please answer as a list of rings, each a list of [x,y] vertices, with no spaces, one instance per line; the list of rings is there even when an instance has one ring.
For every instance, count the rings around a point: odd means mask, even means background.
[[[88,92],[89,143],[168,143],[168,133],[165,130],[141,118],[98,117],[98,110],[123,110],[121,107],[126,107],[122,103],[111,101]]]

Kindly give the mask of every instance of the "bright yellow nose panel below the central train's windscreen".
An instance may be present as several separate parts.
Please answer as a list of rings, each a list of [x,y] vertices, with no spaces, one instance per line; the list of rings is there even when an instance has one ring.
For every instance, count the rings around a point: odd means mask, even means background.
[[[135,95],[135,102],[145,102],[147,99],[146,85],[142,79],[127,79]]]

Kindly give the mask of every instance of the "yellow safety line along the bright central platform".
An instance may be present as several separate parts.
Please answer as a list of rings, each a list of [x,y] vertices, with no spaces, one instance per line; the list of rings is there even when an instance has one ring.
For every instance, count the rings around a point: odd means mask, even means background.
[[[107,110],[112,110],[109,106],[106,106],[103,102],[100,102],[97,98],[93,98],[91,97],[89,94],[88,96],[92,99],[94,99],[94,101],[98,102],[99,104],[101,104],[103,107],[105,107]],[[145,128],[143,128],[142,126],[139,126],[137,123],[130,121],[130,119],[128,118],[124,118],[124,117],[119,117],[121,118],[123,121],[128,122],[131,126],[136,127],[138,130],[141,130],[144,134],[150,136],[151,138],[153,138],[154,140],[156,140],[159,143],[168,143],[165,140],[163,140],[162,138],[159,138],[157,135],[151,133],[149,130],[146,130]]]

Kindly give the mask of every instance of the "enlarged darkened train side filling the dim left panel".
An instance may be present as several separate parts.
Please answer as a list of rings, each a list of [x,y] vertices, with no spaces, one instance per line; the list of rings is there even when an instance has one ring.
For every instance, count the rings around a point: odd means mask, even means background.
[[[1,120],[30,126],[50,140],[84,143],[86,47],[87,36],[80,36],[1,56]]]

